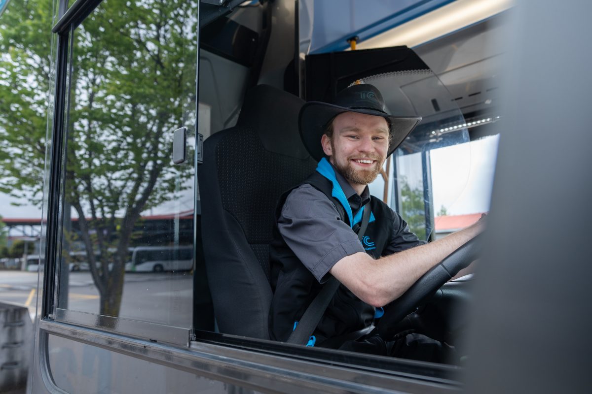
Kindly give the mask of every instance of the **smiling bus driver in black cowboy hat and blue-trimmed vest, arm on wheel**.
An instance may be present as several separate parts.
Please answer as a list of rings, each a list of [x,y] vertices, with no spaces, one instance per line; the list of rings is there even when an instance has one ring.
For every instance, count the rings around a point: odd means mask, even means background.
[[[308,346],[441,361],[447,349],[416,334],[398,340],[374,333],[351,337],[369,327],[381,315],[381,307],[481,230],[478,223],[426,244],[397,213],[369,195],[368,184],[419,121],[389,115],[381,93],[369,84],[348,87],[338,93],[335,104],[303,106],[301,138],[319,162],[316,172],[282,196],[276,212],[272,339],[288,339],[323,284],[334,276],[341,285]],[[371,214],[361,242],[356,232],[366,209]]]

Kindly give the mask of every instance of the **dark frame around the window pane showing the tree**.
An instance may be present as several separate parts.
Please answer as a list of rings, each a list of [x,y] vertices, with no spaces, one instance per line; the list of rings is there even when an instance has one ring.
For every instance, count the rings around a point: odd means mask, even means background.
[[[63,176],[65,172],[65,155],[68,123],[68,100],[71,93],[70,80],[72,68],[70,55],[72,54],[73,32],[85,21],[86,17],[95,11],[102,0],[76,0],[72,6],[67,8],[67,0],[57,0],[59,9],[57,17],[59,20],[53,26],[52,32],[57,35],[57,55],[55,74],[54,108],[52,122],[52,141],[49,152],[49,190],[47,198],[47,226],[45,233],[45,255],[46,264],[43,272],[43,295],[41,301],[40,318],[46,321],[55,321],[77,325],[85,328],[104,330],[115,335],[131,336],[147,341],[162,342],[176,346],[189,346],[189,341],[194,337],[192,321],[189,327],[175,327],[173,325],[139,321],[123,317],[110,317],[90,312],[73,311],[60,308],[57,305],[60,292],[60,280],[62,272],[68,271],[67,264],[64,269],[60,268],[62,253],[62,224],[63,224]],[[199,20],[199,17],[198,17]],[[199,24],[198,24],[199,30]],[[197,34],[199,40],[199,32]],[[199,42],[199,41],[198,41]],[[197,48],[196,69],[199,73],[199,45]],[[196,78],[196,92],[199,92],[199,79]],[[197,126],[197,105],[196,105],[196,126]],[[195,155],[197,166],[197,154]],[[197,168],[197,167],[196,167]],[[197,185],[197,170],[194,175],[194,184]],[[195,226],[194,220],[194,246],[195,249]],[[60,257],[60,258],[59,258]],[[193,281],[191,281],[193,283]],[[66,287],[67,288],[67,287]],[[67,297],[67,294],[66,294]]]

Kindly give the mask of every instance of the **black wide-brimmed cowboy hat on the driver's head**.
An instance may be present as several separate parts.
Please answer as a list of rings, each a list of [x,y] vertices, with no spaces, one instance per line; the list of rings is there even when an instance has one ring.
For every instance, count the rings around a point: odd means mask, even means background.
[[[343,112],[366,113],[387,119],[391,132],[391,144],[388,146],[387,157],[422,120],[420,116],[389,115],[381,93],[376,87],[367,83],[343,89],[337,93],[334,104],[309,101],[300,110],[298,128],[308,153],[317,161],[325,155],[321,146],[321,136],[325,132],[327,123]]]

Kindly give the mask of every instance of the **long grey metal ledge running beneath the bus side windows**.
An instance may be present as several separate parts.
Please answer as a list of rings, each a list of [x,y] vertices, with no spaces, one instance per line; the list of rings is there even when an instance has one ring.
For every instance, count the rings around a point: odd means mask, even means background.
[[[312,359],[294,360],[289,354],[264,354],[210,343],[192,343],[191,349],[172,347],[49,320],[40,321],[39,328],[42,336],[53,334],[261,392],[430,394],[459,390],[454,382],[430,381],[426,376],[403,377],[392,373],[385,375],[379,370],[359,371]],[[193,392],[192,388],[187,390]]]

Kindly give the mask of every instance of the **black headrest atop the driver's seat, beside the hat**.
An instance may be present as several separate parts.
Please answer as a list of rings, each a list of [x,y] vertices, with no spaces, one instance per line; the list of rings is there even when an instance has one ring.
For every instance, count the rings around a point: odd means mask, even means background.
[[[303,105],[304,100],[284,90],[253,86],[244,95],[236,127],[254,129],[270,152],[305,159],[310,155],[298,132],[298,113]]]

